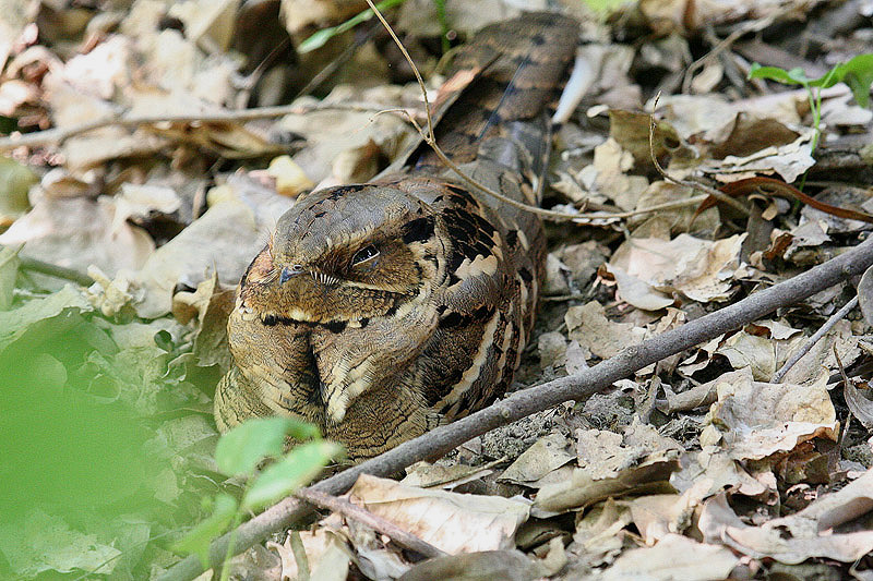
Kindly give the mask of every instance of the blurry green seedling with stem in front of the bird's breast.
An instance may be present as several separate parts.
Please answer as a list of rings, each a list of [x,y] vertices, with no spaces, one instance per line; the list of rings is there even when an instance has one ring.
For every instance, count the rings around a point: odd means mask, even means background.
[[[290,436],[301,444],[284,452]],[[342,447],[321,439],[319,428],[288,417],[249,420],[218,440],[215,461],[228,476],[243,476],[247,485],[242,499],[219,494],[212,500],[213,513],[174,545],[174,550],[195,554],[208,567],[210,544],[231,529],[222,580],[228,576],[228,561],[234,555],[234,534],[248,511],[261,510],[306,486],[327,463],[338,458]],[[275,459],[260,473],[258,465]]]

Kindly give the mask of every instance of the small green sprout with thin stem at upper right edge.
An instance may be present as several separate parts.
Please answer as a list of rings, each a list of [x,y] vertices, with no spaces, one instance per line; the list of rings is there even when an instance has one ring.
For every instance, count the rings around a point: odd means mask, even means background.
[[[779,66],[762,66],[755,62],[749,71],[749,78],[768,78],[784,85],[800,85],[806,89],[815,130],[812,138],[814,152],[822,133],[822,89],[833,87],[837,83],[846,83],[858,105],[868,107],[870,86],[873,84],[873,53],[859,55],[848,62],[834,66],[818,78],[808,77],[800,68],[786,71]]]

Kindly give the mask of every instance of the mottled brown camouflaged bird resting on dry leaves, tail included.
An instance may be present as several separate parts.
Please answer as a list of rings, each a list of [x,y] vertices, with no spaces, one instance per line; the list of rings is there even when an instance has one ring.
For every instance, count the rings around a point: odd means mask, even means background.
[[[467,175],[539,203],[550,107],[577,38],[575,21],[527,13],[481,29],[455,58],[436,141]],[[228,322],[222,431],[299,416],[361,459],[512,383],[543,277],[539,218],[473,192],[426,146],[402,164],[279,218]]]

